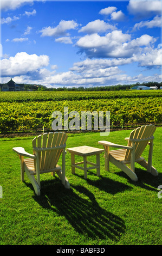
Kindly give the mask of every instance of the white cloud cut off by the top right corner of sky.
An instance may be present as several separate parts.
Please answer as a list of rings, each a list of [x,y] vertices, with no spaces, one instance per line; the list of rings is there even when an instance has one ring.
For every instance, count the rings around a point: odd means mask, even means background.
[[[137,16],[149,16],[161,14],[161,1],[159,0],[130,0],[128,4],[129,13]]]

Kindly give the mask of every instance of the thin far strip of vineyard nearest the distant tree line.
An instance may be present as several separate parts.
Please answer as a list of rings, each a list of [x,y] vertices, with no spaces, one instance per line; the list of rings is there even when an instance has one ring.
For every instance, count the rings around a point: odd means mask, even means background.
[[[139,97],[161,97],[162,90],[120,90],[104,92],[0,92],[0,102],[40,102],[64,100],[132,99]]]

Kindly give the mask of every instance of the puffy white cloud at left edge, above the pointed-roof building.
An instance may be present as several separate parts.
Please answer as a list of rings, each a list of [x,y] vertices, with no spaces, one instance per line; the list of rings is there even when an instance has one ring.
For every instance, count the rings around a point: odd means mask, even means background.
[[[18,52],[15,57],[0,60],[2,76],[25,75],[49,64],[47,55],[29,55],[26,52]]]

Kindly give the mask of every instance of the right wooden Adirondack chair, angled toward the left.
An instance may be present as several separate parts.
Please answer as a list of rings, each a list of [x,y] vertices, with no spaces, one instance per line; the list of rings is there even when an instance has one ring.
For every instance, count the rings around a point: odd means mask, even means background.
[[[134,163],[137,162],[145,167],[147,172],[157,176],[158,172],[152,166],[153,133],[155,132],[155,129],[156,127],[154,125],[145,125],[133,130],[130,133],[129,138],[125,138],[125,140],[128,141],[127,146],[107,141],[99,141],[98,143],[103,145],[105,149],[105,169],[109,171],[110,161],[125,172],[131,180],[137,181],[138,178],[134,172]],[[145,161],[144,157],[141,157],[147,144],[150,145],[148,162]],[[109,151],[109,147],[120,149]],[[128,167],[126,164],[131,166]]]

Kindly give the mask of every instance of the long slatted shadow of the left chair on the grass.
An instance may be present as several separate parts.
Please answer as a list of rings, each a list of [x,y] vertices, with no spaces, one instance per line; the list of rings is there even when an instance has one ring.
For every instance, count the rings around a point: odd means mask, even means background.
[[[102,209],[94,194],[83,186],[70,185],[67,190],[61,184],[46,181],[41,196],[34,199],[44,209],[65,217],[77,233],[87,238],[117,241],[125,233],[124,221]]]

